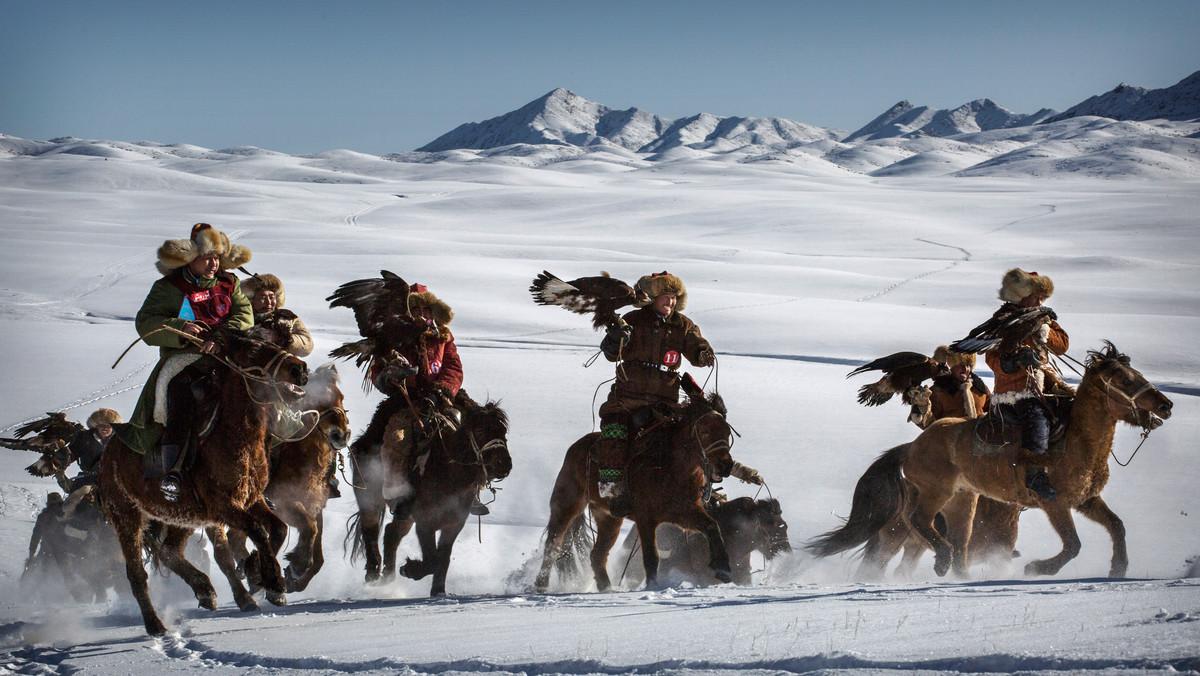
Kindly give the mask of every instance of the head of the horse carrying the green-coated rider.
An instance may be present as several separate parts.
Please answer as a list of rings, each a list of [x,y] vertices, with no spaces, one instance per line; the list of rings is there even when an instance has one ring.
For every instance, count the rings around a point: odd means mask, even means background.
[[[212,334],[218,357],[246,382],[256,401],[295,402],[308,383],[308,365],[286,349],[248,331],[223,328]]]

